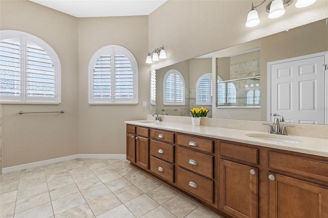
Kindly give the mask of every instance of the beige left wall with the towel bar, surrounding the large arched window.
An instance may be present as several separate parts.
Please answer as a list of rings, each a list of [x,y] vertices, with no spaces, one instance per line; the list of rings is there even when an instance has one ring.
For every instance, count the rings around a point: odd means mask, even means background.
[[[77,19],[24,1],[1,1],[1,30],[19,30],[47,42],[61,65],[61,104],[3,104],[3,167],[77,154]],[[63,25],[65,24],[65,25]],[[61,111],[64,114],[23,114]]]

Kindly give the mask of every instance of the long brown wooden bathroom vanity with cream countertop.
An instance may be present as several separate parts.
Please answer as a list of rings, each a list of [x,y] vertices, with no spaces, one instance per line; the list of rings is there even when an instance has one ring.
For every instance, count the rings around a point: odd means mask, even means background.
[[[127,121],[127,159],[224,217],[328,217],[328,140]]]

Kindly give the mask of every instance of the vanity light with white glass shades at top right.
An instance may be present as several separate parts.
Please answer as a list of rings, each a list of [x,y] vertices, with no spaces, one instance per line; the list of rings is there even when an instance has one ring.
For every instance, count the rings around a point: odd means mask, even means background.
[[[290,6],[294,0],[272,0],[267,5],[267,12],[269,12],[269,18],[277,18],[282,16],[285,13],[284,7]],[[295,7],[296,8],[304,8],[312,5],[317,0],[297,0]],[[257,6],[254,6],[252,3],[251,11],[247,15],[246,27],[255,27],[260,23],[260,19],[258,18],[258,13],[255,8],[263,5],[267,0],[263,0],[263,2]]]

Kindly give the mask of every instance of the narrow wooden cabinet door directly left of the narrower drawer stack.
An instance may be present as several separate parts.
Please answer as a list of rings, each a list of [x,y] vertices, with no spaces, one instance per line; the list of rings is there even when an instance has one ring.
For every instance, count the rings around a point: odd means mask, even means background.
[[[149,139],[138,136],[136,139],[136,163],[149,169]]]

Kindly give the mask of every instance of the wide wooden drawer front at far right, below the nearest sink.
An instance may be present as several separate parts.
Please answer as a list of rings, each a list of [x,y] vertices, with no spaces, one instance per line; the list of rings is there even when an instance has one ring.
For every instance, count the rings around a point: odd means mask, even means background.
[[[328,162],[269,151],[269,167],[328,181]]]

